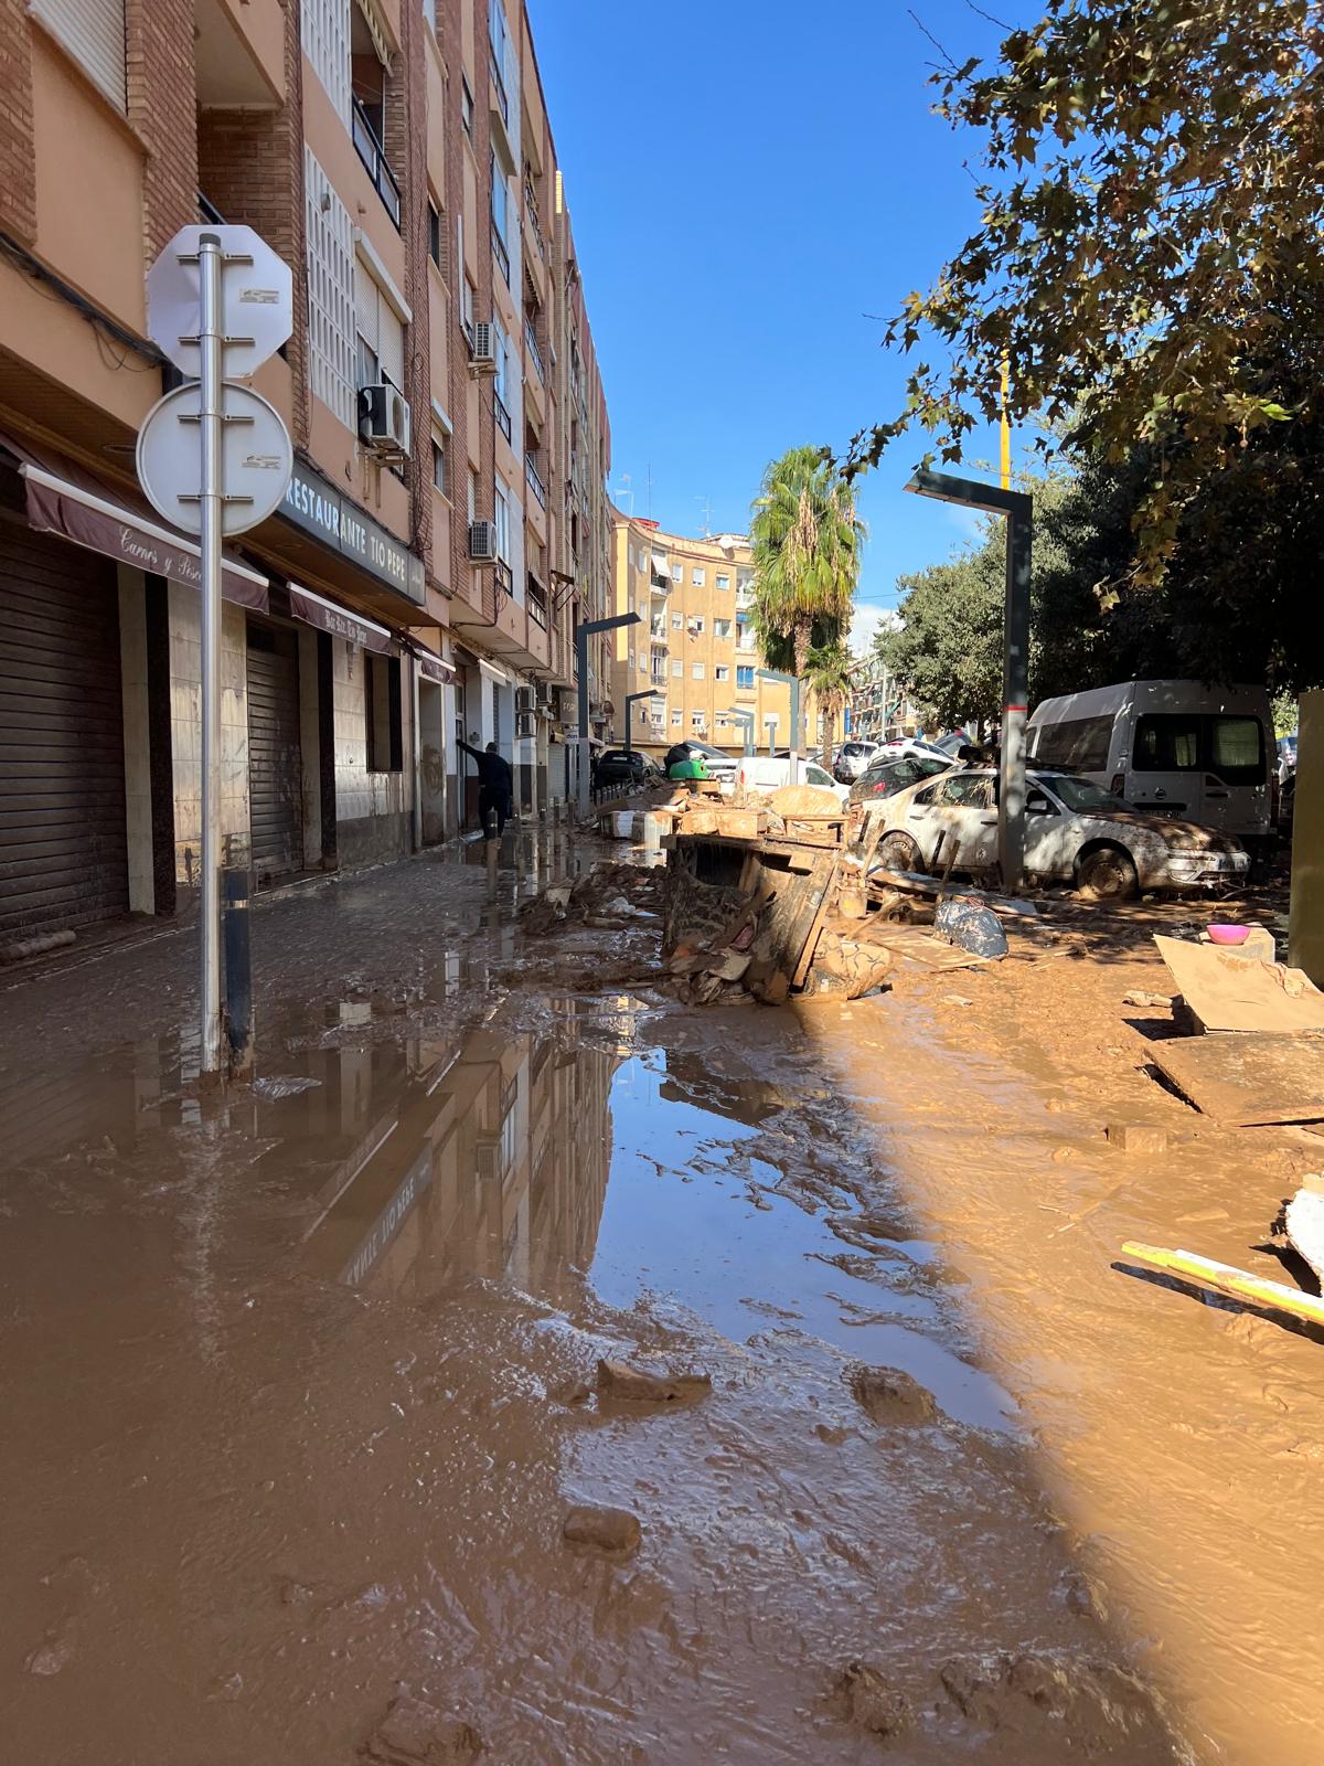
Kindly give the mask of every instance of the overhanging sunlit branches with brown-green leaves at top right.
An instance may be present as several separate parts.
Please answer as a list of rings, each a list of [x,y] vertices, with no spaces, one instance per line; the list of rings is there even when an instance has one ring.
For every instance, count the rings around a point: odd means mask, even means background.
[[[1013,420],[1144,468],[1144,585],[1199,494],[1253,496],[1248,456],[1294,473],[1320,419],[1322,53],[1319,0],[1047,0],[994,65],[943,67],[939,113],[983,136],[982,221],[888,330],[944,362],[847,475],[911,424],[959,459],[1006,364]]]

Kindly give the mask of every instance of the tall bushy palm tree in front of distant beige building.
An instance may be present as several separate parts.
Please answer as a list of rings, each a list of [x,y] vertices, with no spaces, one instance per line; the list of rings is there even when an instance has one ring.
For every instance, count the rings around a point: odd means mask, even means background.
[[[854,493],[819,449],[793,447],[763,475],[750,539],[754,629],[764,655],[777,639],[789,641],[791,666],[803,680],[814,643],[844,639],[851,625],[865,540]]]

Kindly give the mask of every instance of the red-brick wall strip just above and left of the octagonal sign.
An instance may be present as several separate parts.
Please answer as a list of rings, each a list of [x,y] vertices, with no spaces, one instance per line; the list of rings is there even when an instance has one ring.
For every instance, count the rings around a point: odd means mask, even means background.
[[[129,0],[129,122],[147,147],[143,254],[154,263],[198,219],[192,0]]]

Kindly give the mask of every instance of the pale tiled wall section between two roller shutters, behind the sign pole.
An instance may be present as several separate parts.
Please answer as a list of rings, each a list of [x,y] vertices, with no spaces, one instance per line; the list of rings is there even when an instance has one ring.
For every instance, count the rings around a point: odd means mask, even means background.
[[[245,615],[221,608],[221,834],[222,862],[249,862],[249,708]],[[203,786],[201,600],[169,585],[169,735],[175,763],[175,876],[198,887]]]

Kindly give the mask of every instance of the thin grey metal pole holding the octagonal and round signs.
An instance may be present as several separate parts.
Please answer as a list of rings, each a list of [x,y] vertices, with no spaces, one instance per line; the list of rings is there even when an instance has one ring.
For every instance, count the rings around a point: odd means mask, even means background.
[[[222,463],[222,313],[224,256],[215,233],[198,240],[201,283],[201,671],[203,671],[203,779],[201,779],[201,1037],[198,1070],[221,1070],[221,517],[224,512]]]

